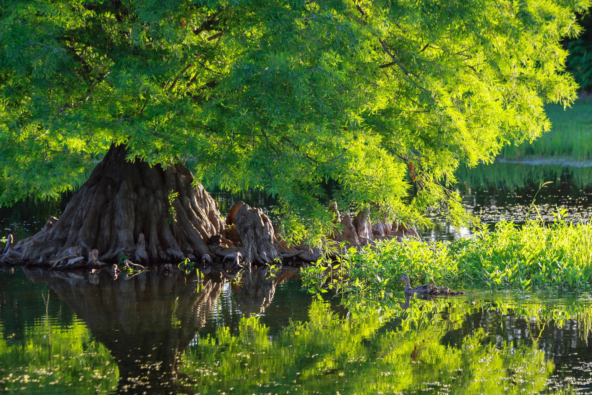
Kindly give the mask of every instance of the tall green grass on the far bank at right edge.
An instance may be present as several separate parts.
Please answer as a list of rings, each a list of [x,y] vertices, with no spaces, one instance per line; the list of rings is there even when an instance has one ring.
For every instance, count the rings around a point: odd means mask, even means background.
[[[550,104],[546,113],[552,123],[549,133],[532,144],[504,147],[501,155],[506,158],[532,155],[592,159],[592,98],[580,98],[565,110],[562,105]]]

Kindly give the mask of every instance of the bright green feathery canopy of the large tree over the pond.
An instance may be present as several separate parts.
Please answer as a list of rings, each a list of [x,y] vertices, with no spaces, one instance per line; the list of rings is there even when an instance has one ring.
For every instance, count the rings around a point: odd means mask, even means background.
[[[342,208],[417,220],[445,203],[461,220],[459,163],[534,139],[545,103],[574,101],[559,41],[588,5],[3,1],[0,204],[75,188],[115,142],[262,188],[292,230],[329,226],[329,180]]]

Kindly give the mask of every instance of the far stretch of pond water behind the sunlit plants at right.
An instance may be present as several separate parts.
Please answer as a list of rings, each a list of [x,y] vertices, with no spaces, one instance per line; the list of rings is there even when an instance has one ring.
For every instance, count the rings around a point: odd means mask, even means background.
[[[462,205],[490,226],[502,220],[523,224],[527,217],[552,221],[556,207],[567,208],[565,219],[570,221],[587,223],[592,217],[592,166],[496,162],[459,168],[456,177]],[[545,182],[549,184],[541,188]],[[533,201],[537,210],[530,210]],[[420,231],[423,239],[452,240],[471,234],[466,228],[454,229],[437,211],[432,216],[432,227]]]

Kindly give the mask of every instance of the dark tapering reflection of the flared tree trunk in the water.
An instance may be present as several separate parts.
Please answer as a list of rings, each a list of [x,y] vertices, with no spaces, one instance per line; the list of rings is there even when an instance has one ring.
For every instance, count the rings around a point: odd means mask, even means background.
[[[28,271],[70,307],[114,357],[118,393],[176,393],[178,362],[205,325],[223,282],[194,272],[145,271],[129,280]],[[199,287],[198,287],[199,285]]]

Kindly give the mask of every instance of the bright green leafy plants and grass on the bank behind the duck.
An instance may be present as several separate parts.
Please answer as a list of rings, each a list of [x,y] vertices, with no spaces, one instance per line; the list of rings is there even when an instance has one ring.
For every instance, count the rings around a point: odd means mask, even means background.
[[[387,294],[403,290],[395,283],[401,274],[412,286],[435,283],[494,288],[592,288],[592,226],[557,220],[545,225],[530,221],[523,227],[499,223],[492,231],[453,242],[392,240],[374,247],[350,248],[333,262],[303,268],[312,291]]]

